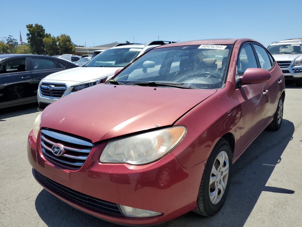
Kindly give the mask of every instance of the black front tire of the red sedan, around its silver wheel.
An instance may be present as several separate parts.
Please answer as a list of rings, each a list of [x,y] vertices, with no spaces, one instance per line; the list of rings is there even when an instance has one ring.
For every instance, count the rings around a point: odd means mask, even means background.
[[[209,190],[210,190],[209,183],[210,183],[210,176],[212,172],[212,166],[214,165],[214,162],[216,161],[216,157],[220,153],[220,151],[225,151],[228,155],[229,176],[227,179],[226,189],[224,191],[223,196],[221,197],[220,201],[217,204],[213,204],[212,202],[210,202],[210,197],[209,197]],[[231,172],[232,172],[232,158],[233,158],[233,154],[229,143],[227,142],[227,140],[221,138],[214,146],[214,149],[207,160],[206,166],[204,168],[204,173],[201,178],[201,184],[197,196],[196,207],[194,208],[193,212],[199,215],[210,217],[215,215],[221,209],[230,187],[230,179],[231,179]]]

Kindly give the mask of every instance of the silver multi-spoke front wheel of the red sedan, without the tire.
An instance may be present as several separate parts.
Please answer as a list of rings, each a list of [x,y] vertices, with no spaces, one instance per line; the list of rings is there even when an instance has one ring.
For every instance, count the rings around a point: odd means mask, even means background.
[[[229,177],[229,157],[220,151],[215,158],[209,183],[209,197],[212,204],[217,204],[225,192]]]

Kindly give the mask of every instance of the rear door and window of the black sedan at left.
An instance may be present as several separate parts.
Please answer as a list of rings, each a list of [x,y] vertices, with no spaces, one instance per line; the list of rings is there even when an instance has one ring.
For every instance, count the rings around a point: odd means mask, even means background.
[[[66,65],[61,62],[41,57],[31,57],[31,64],[34,93],[36,98],[40,81],[49,74],[62,71],[66,67]]]

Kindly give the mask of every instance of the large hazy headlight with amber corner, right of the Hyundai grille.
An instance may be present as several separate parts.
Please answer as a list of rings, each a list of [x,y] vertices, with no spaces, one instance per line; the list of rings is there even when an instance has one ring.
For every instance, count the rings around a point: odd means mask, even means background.
[[[109,142],[100,162],[132,165],[154,162],[172,151],[185,133],[184,126],[175,126]]]

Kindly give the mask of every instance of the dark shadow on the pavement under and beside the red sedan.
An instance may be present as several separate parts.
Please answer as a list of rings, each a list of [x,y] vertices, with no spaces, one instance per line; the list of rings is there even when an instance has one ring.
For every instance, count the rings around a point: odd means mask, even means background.
[[[278,131],[265,130],[234,163],[231,185],[220,212],[209,218],[188,212],[158,227],[169,226],[243,226],[262,191],[293,194],[290,188],[266,186],[281,155],[292,140],[294,124],[283,119]],[[278,183],[276,183],[278,185]],[[175,198],[177,199],[177,198]],[[43,189],[35,202],[40,218],[49,227],[118,226],[81,212]],[[160,206],[160,205],[159,205]]]

